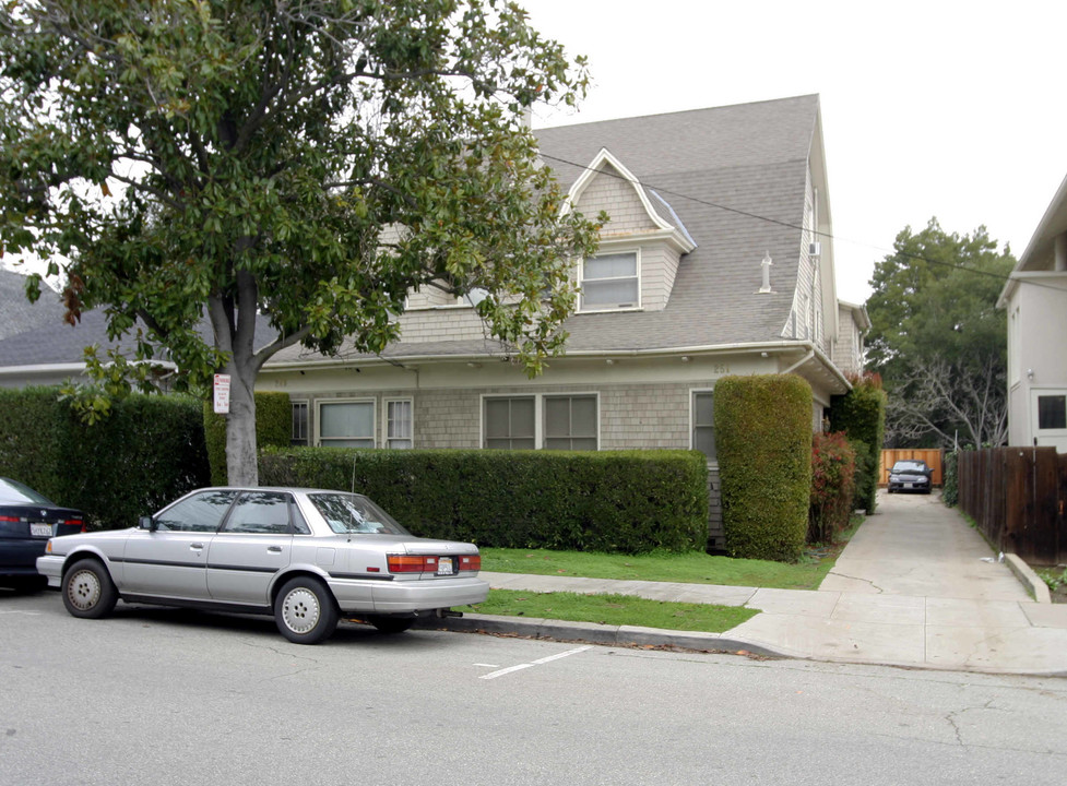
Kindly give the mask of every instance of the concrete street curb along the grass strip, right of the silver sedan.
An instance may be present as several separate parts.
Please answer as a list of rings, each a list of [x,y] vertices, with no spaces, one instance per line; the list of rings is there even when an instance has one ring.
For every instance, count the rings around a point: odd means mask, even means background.
[[[434,617],[418,619],[414,627],[424,630],[518,635],[607,646],[662,646],[699,652],[742,653],[771,658],[794,657],[759,644],[749,644],[737,639],[724,639],[718,633],[673,631],[636,626],[605,626],[593,622],[465,614],[463,617],[447,617],[444,619]]]

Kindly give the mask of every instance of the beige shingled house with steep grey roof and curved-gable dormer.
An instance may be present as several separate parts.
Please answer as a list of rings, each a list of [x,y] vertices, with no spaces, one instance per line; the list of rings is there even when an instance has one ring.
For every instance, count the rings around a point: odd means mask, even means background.
[[[830,397],[858,371],[862,306],[839,303],[818,96],[535,132],[585,215],[610,222],[576,260],[565,357],[529,380],[467,299],[412,293],[380,356],[291,347],[260,374],[293,441],[379,449],[697,449],[718,477],[725,374],[796,373]]]

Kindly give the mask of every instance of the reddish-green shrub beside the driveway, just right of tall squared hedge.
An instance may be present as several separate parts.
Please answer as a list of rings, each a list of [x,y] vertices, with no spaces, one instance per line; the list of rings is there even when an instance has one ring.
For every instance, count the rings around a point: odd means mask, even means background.
[[[833,543],[849,526],[855,490],[856,453],[844,433],[817,433],[811,446],[811,508],[808,540]]]

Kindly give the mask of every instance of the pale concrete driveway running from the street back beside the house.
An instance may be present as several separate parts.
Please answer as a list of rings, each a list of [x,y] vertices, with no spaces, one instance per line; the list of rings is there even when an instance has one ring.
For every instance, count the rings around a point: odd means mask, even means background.
[[[783,654],[1067,674],[1067,606],[1038,604],[939,496],[879,492],[818,592],[759,590],[727,634]]]

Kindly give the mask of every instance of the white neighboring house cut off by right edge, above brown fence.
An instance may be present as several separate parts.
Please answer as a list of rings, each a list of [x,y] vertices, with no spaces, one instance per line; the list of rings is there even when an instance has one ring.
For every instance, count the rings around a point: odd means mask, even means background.
[[[1067,179],[997,308],[1008,312],[1008,443],[1067,453]]]

